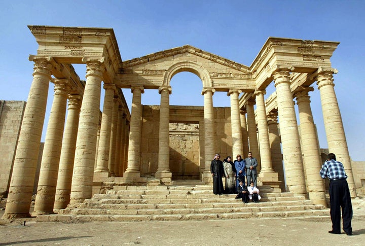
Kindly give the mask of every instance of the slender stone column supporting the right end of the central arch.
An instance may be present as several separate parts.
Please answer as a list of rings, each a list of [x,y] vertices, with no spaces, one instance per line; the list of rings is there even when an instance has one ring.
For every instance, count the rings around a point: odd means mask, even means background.
[[[203,88],[202,95],[204,95],[204,139],[205,139],[205,168],[202,173],[202,180],[204,182],[211,182],[212,177],[210,173],[210,162],[215,154],[215,136],[214,136],[214,113],[213,113],[213,88]]]

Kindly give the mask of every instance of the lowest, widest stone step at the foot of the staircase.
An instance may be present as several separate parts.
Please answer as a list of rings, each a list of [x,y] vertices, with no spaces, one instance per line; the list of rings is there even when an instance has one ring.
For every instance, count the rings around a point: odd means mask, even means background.
[[[281,212],[239,212],[225,214],[187,214],[187,215],[40,215],[38,222],[72,222],[83,223],[90,221],[178,221],[178,220],[217,220],[217,219],[245,219],[245,218],[286,218],[286,217],[326,217],[328,209],[323,210],[293,210]]]

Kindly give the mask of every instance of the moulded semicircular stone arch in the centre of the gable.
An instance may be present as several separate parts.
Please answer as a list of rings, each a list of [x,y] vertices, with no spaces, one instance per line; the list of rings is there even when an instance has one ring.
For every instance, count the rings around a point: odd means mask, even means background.
[[[198,76],[204,87],[212,87],[212,81],[209,72],[202,65],[192,61],[180,61],[170,66],[164,74],[163,85],[171,86],[170,81],[172,77],[180,72],[190,72]]]

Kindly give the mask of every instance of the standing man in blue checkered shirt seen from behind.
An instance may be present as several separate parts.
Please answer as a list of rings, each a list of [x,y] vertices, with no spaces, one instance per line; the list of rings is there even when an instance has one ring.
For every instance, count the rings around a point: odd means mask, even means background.
[[[352,235],[351,219],[352,205],[350,190],[347,184],[347,175],[343,164],[336,161],[336,155],[330,153],[327,155],[327,161],[324,162],[319,174],[323,179],[326,177],[330,180],[330,215],[332,221],[332,234],[341,234],[341,208],[343,230],[348,236]]]

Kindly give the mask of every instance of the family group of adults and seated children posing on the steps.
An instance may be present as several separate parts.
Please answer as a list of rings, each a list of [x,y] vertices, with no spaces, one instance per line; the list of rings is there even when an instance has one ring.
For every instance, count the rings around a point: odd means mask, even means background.
[[[236,160],[232,162],[232,158],[227,156],[223,162],[220,160],[221,155],[215,154],[214,159],[210,163],[210,172],[213,178],[214,194],[235,194],[236,198],[242,199],[247,203],[249,200],[258,202],[261,199],[260,191],[257,188],[257,159],[252,157],[252,153],[248,152],[248,157],[242,159],[241,155],[237,155]],[[226,178],[225,189],[223,187],[222,178]],[[245,180],[247,179],[247,186]],[[248,186],[248,184],[250,184]]]

